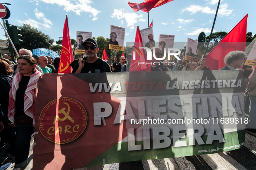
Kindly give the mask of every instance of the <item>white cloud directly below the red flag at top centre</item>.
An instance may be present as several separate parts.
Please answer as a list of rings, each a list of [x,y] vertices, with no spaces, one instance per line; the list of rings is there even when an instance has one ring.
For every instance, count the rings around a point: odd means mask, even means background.
[[[125,19],[127,23],[127,27],[130,27],[130,29],[134,29],[134,24],[139,21],[143,21],[145,19],[142,19],[143,15],[137,15],[136,13],[129,13],[125,11],[124,9],[114,9],[114,12],[111,15],[112,18],[117,18],[117,19]],[[146,21],[146,20],[145,20]],[[143,21],[143,22],[145,22]]]

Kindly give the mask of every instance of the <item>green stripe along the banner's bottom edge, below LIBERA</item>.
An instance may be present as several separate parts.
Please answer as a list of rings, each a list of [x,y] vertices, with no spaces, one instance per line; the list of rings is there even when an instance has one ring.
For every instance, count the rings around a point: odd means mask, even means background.
[[[204,143],[207,140],[207,135],[202,136]],[[141,144],[142,150],[128,151],[128,143],[118,143],[112,148],[98,156],[85,167],[91,167],[102,164],[113,164],[118,162],[136,161],[136,160],[150,160],[163,159],[173,157],[184,157],[201,154],[214,154],[218,152],[231,151],[242,148],[244,146],[245,130],[230,132],[224,134],[224,143],[213,141],[212,144],[198,145],[195,142],[193,146],[173,147],[173,140],[171,146],[162,149],[153,149],[153,141],[151,141],[151,149],[143,150],[143,141],[137,141],[135,144]],[[188,138],[180,138],[180,141],[187,141]],[[121,147],[120,147],[121,145]]]

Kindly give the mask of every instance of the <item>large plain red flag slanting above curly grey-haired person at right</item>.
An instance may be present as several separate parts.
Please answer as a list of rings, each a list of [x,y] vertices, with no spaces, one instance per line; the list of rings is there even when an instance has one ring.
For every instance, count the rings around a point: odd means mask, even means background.
[[[205,65],[210,70],[224,67],[224,58],[230,51],[245,51],[247,17],[248,14],[207,55]]]

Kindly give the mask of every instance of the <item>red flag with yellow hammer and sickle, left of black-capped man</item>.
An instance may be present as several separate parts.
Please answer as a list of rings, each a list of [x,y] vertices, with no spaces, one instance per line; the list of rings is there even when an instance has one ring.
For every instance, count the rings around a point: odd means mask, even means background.
[[[63,28],[62,36],[62,54],[60,59],[60,64],[58,67],[58,73],[71,73],[72,67],[69,66],[72,61],[74,61],[73,49],[69,37],[68,29],[68,16],[66,15],[66,20]]]

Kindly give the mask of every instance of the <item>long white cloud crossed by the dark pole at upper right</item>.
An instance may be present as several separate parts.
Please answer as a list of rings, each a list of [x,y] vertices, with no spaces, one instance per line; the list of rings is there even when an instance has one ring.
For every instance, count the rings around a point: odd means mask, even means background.
[[[233,10],[228,10],[228,4],[224,3],[222,5],[220,5],[220,8],[218,10],[218,15],[219,16],[229,16]],[[182,10],[181,13],[188,11],[191,14],[195,14],[199,11],[201,11],[202,13],[207,13],[207,14],[215,14],[216,10],[212,10],[211,8],[209,8],[208,6],[203,7],[203,6],[199,6],[199,5],[191,5],[187,8],[185,8],[184,10]]]

